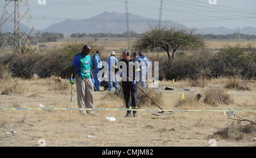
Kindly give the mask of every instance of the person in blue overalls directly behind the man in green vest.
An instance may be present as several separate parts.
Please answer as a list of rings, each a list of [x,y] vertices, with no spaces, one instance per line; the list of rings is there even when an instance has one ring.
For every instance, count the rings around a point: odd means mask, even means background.
[[[95,81],[95,88],[97,91],[101,91],[100,86],[101,86],[101,77],[98,76],[97,74],[100,72],[102,69],[102,64],[101,64],[101,52],[96,51],[96,53],[93,55],[92,59],[92,73],[93,73],[93,78]]]

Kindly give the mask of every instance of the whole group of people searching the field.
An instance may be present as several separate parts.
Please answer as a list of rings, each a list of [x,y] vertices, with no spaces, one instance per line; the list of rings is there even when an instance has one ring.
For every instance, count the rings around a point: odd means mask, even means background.
[[[89,45],[84,45],[82,51],[77,53],[75,57],[73,57],[72,63],[72,73],[70,80],[73,81],[73,78],[76,78],[76,87],[77,87],[77,102],[79,108],[93,108],[93,91],[101,91],[101,75],[99,75],[100,71],[104,69],[104,66],[108,67],[108,90],[110,92],[113,91],[113,86],[115,91],[118,92],[121,90],[121,86],[118,84],[116,74],[118,71],[119,76],[124,78],[122,80],[122,90],[123,96],[125,99],[125,104],[127,108],[127,113],[125,117],[131,117],[131,111],[133,111],[133,117],[137,117],[137,111],[131,109],[138,109],[137,106],[137,80],[135,78],[135,73],[139,73],[139,83],[141,83],[142,88],[146,88],[146,73],[150,62],[147,57],[143,55],[142,52],[139,52],[139,56],[137,52],[134,52],[131,56],[131,52],[127,49],[122,51],[122,61],[125,63],[125,66],[122,65],[118,68],[118,59],[115,57],[115,52],[111,51],[110,56],[106,60],[107,65],[102,65],[101,61],[101,52],[96,51],[93,55],[92,59],[89,55],[91,48]],[[129,66],[129,64],[137,64],[138,63],[146,63],[139,66]],[[135,68],[136,67],[136,68]],[[114,71],[113,71],[114,69]],[[75,76],[76,75],[76,76]],[[129,78],[132,76],[132,78]],[[128,80],[127,80],[128,79]],[[131,102],[130,102],[131,98]],[[80,110],[81,114],[93,115],[97,117],[98,115],[94,113],[92,110]]]

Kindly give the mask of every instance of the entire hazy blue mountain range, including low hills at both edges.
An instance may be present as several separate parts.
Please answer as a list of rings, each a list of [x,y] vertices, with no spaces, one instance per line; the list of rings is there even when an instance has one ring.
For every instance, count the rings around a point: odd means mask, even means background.
[[[178,27],[185,28],[184,24],[175,23],[170,20],[163,20],[162,26],[165,27]],[[13,24],[7,24],[3,30],[11,32]],[[150,27],[158,26],[158,20],[152,18],[144,18],[139,15],[129,14],[129,28],[130,31],[137,32],[138,34],[146,32]],[[29,27],[22,24],[22,31],[27,32]],[[51,26],[41,30],[40,32],[57,32],[70,36],[74,33],[113,33],[122,34],[127,31],[126,14],[108,13],[104,12],[99,15],[93,16],[84,20],[67,19],[60,23],[51,24]],[[227,35],[237,32],[237,29],[230,29],[226,27],[217,28],[197,28],[196,34],[214,34],[214,35]],[[243,27],[240,28],[241,34],[256,35],[256,27]]]

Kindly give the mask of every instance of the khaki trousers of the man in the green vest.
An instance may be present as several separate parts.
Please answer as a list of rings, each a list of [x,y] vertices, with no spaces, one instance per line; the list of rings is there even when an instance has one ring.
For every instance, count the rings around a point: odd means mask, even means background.
[[[93,82],[92,79],[84,79],[79,75],[76,75],[76,90],[77,90],[77,103],[79,108],[93,108]],[[80,110],[79,112],[84,114],[86,110]],[[87,110],[86,113],[94,113],[91,110]]]

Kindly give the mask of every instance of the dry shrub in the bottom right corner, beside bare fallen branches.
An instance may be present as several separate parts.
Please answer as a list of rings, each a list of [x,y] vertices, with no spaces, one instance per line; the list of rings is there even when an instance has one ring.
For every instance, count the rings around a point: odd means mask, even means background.
[[[255,136],[255,125],[253,123],[241,124],[232,122],[228,127],[222,128],[210,135],[210,138],[226,140],[251,140]]]

